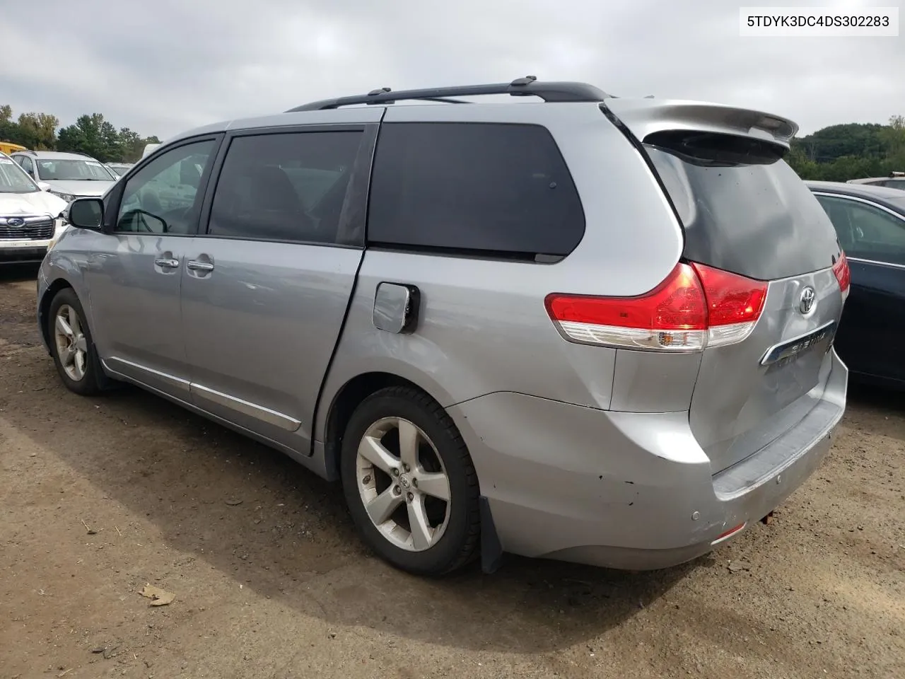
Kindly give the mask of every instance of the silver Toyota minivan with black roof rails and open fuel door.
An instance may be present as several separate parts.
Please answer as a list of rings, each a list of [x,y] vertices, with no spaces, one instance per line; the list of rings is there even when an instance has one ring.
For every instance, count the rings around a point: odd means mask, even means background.
[[[795,130],[531,77],[210,125],[71,204],[40,328],[72,391],[131,382],[341,480],[399,568],[670,566],[843,415],[848,266]]]

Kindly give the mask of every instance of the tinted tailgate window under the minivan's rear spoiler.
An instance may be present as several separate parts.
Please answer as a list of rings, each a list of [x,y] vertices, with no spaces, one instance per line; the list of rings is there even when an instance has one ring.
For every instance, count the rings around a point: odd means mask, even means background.
[[[665,132],[644,139],[685,230],[684,256],[762,281],[832,266],[833,225],[773,144]]]

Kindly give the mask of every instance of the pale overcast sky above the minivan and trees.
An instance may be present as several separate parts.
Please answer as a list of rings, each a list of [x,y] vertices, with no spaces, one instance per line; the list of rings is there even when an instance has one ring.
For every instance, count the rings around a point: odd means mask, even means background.
[[[767,110],[806,134],[905,114],[905,37],[743,38],[739,5],[902,2],[0,0],[0,104],[166,139],[376,87],[533,74]]]

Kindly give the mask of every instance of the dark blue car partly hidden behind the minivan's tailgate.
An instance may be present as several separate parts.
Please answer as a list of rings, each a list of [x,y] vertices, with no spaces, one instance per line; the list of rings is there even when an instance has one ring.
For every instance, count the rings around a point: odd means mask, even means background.
[[[905,387],[905,193],[808,182],[830,216],[852,271],[836,350],[863,381]]]

